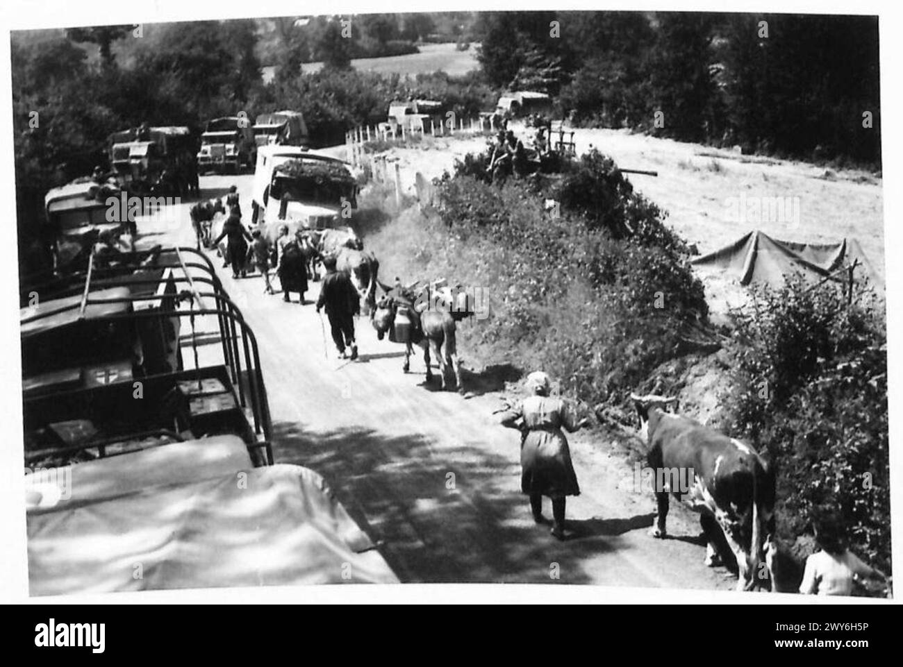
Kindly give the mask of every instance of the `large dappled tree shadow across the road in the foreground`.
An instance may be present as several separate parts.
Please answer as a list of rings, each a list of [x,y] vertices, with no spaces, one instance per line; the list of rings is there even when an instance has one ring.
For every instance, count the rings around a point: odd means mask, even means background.
[[[604,538],[648,523],[573,522],[594,539],[558,542],[547,525],[535,525],[519,493],[516,454],[437,448],[416,433],[305,432],[293,422],[276,422],[273,441],[277,463],[312,468],[329,481],[405,582],[592,583],[582,560],[610,551]],[[551,579],[552,564],[566,577]]]

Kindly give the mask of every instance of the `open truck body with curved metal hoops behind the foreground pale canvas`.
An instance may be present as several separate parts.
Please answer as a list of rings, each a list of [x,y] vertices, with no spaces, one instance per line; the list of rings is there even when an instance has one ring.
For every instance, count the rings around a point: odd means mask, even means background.
[[[154,255],[157,263],[146,264]],[[61,465],[86,452],[88,458],[103,458],[186,440],[184,433],[191,432],[195,439],[237,435],[255,465],[272,464],[272,425],[256,337],[229,300],[206,255],[191,247],[155,248],[135,252],[128,261],[110,268],[96,267],[92,256],[86,272],[23,286],[25,290],[41,294],[42,305],[40,312],[22,311],[23,354],[33,342],[29,338],[52,332],[54,327],[104,331],[118,326],[126,331],[134,328],[142,354],[154,350],[157,357],[154,363],[144,360],[147,372],[143,375],[132,372],[135,366],[126,368],[121,359],[102,354],[80,368],[45,371],[49,382],[23,375],[27,463],[51,460]],[[204,316],[215,318],[219,326],[219,339],[213,341],[219,343],[215,347],[219,356],[214,363],[200,362],[194,324]],[[54,323],[50,318],[62,321]],[[191,326],[187,345],[179,336],[186,321]],[[158,337],[162,339],[154,339]],[[167,365],[160,350],[165,355],[172,343],[177,361],[172,363],[170,357]],[[183,366],[186,352],[193,356],[193,368]],[[135,382],[140,383],[141,400],[135,399]],[[48,432],[51,424],[79,420],[96,424],[104,437],[48,442],[53,440]],[[46,437],[35,436],[30,443],[30,434],[41,431]]]

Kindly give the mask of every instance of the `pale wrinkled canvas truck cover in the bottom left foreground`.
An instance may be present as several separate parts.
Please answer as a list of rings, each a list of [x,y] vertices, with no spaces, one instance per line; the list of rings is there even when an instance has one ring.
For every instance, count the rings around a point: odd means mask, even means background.
[[[398,582],[320,475],[240,472],[30,513],[31,595]]]

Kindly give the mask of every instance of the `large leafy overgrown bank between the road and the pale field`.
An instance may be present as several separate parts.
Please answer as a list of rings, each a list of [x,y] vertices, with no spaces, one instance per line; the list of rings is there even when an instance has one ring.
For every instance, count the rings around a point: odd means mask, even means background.
[[[491,316],[461,334],[472,361],[541,367],[583,401],[620,403],[707,315],[683,242],[600,153],[538,186],[471,175],[484,160],[468,155],[446,176],[438,216],[403,216],[368,247],[403,278],[446,275],[483,291]],[[547,211],[553,192],[561,207]],[[401,248],[389,240],[399,233]]]

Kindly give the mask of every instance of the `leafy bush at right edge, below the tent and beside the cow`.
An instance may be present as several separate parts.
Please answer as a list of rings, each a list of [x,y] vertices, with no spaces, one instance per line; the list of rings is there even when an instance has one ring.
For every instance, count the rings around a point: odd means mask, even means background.
[[[890,569],[887,338],[868,292],[793,279],[737,318],[729,429],[777,464],[778,534],[830,506],[853,551]],[[798,556],[806,555],[797,552]]]

